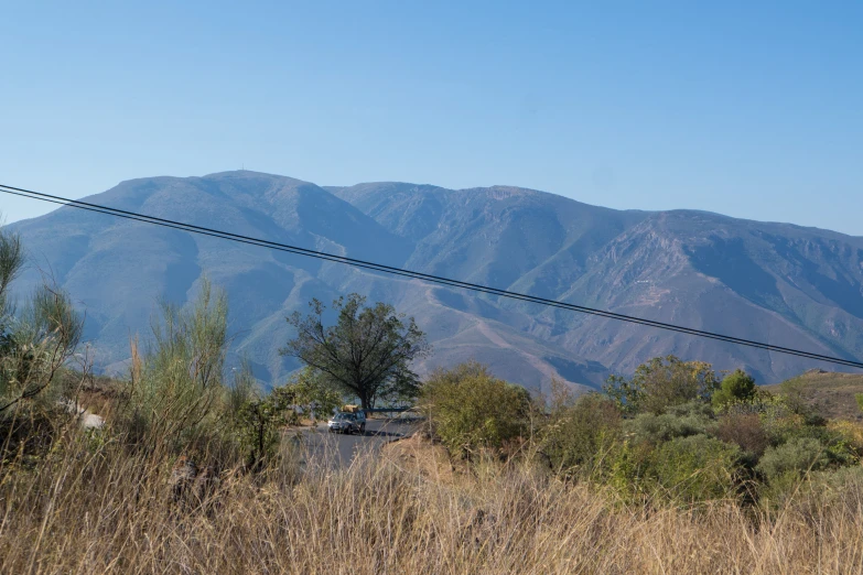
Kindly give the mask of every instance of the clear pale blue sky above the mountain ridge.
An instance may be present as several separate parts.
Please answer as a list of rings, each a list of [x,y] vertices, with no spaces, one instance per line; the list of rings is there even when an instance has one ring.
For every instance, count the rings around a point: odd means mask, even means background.
[[[859,1],[0,0],[0,22],[8,185],[245,165],[863,236]]]

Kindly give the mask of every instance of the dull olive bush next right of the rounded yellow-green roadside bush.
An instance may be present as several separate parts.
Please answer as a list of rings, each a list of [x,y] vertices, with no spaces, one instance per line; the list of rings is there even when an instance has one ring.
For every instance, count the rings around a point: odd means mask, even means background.
[[[586,393],[572,405],[555,405],[543,428],[542,448],[552,468],[564,475],[589,476],[621,434],[621,411],[598,393]]]

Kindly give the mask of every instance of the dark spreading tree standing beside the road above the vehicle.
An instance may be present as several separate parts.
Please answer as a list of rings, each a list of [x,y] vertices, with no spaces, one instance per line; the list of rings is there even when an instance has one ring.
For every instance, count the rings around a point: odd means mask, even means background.
[[[364,409],[374,408],[379,399],[416,397],[419,378],[410,364],[429,354],[425,334],[391,305],[365,303],[356,293],[339,297],[333,302],[338,319],[326,327],[325,306],[312,300],[312,313],[288,316],[296,338],[280,354],[299,358],[331,384],[356,395]]]

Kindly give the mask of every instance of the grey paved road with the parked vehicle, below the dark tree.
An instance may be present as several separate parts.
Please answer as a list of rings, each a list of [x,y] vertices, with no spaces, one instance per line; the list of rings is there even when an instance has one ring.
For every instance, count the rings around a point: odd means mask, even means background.
[[[305,445],[309,447],[306,457],[320,457],[323,460],[346,467],[354,456],[366,449],[378,449],[391,441],[407,437],[416,428],[416,423],[398,420],[368,420],[366,432],[359,434],[330,433],[326,423],[302,432]]]

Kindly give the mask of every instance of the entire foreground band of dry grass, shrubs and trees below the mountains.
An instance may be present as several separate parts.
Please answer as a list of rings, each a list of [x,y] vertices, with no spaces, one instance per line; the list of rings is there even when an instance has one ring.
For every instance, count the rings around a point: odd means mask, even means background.
[[[331,327],[320,303],[290,318],[306,367],[265,391],[248,366],[226,377],[208,282],[107,380],[62,292],[9,301],[22,263],[0,230],[2,573],[863,569],[863,427],[799,381],[675,357],[582,395],[531,397],[476,362],[420,380],[413,321],[352,295]],[[424,420],[346,468],[291,431],[355,399]]]

